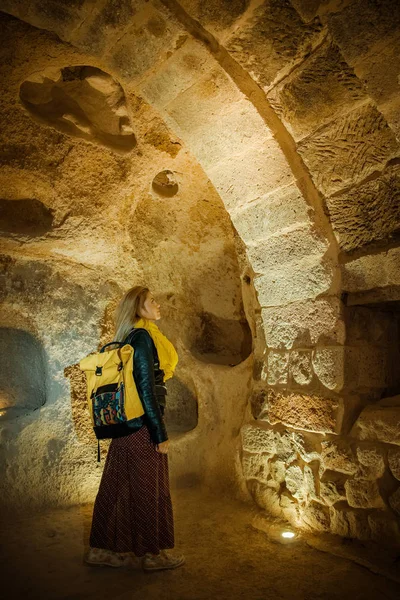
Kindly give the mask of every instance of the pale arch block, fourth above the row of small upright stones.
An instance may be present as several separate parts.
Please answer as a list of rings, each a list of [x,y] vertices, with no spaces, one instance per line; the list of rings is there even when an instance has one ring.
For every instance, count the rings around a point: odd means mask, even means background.
[[[286,227],[310,222],[311,208],[293,183],[274,190],[231,213],[245,244],[263,240]]]

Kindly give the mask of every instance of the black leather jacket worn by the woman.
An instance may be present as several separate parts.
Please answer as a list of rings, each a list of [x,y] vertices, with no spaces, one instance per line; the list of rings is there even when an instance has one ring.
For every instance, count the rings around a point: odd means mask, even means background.
[[[160,444],[168,439],[163,419],[167,390],[157,349],[149,332],[142,328],[132,329],[125,343],[134,348],[133,377],[145,411],[141,417],[127,421],[127,425],[130,433],[147,425],[152,441]]]

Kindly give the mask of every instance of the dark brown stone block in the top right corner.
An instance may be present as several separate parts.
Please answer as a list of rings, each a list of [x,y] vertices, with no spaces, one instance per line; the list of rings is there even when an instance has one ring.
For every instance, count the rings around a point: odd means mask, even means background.
[[[330,14],[328,27],[345,59],[355,64],[386,42],[398,28],[400,5],[393,0],[357,0]]]

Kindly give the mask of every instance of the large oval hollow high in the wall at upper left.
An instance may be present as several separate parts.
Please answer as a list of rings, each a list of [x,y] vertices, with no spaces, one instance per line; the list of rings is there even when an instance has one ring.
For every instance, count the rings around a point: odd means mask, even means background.
[[[21,84],[30,115],[68,135],[129,152],[136,146],[121,85],[89,66],[49,68]]]

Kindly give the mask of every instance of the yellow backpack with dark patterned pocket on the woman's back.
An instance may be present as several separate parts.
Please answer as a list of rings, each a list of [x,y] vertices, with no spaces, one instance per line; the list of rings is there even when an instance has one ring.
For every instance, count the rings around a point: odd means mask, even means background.
[[[106,350],[109,346],[118,347]],[[88,408],[98,440],[128,435],[127,421],[144,414],[133,378],[133,354],[130,344],[110,342],[79,363],[86,375]],[[100,461],[100,444],[97,458]]]

